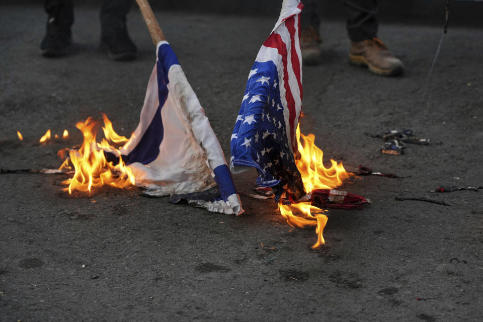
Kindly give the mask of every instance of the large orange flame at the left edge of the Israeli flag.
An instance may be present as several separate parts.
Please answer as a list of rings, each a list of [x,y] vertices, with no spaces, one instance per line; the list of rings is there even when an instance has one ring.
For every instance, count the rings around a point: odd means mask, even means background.
[[[103,127],[106,137],[121,137],[112,129],[112,124],[107,116],[103,115],[103,117],[107,128]],[[75,127],[84,134],[84,142],[78,150],[69,150],[69,158],[65,159],[59,168],[60,170],[71,169],[69,164],[72,164],[75,171],[72,178],[62,182],[69,185],[64,190],[71,194],[73,190],[91,192],[93,187],[103,185],[116,188],[134,185],[134,176],[131,169],[126,167],[121,157],[119,157],[119,163],[116,166],[112,162],[107,162],[105,150],[117,155],[120,155],[120,153],[106,139],[103,139],[101,143],[96,142],[98,122],[89,117],[85,122],[78,122]],[[62,155],[60,151],[59,155]]]

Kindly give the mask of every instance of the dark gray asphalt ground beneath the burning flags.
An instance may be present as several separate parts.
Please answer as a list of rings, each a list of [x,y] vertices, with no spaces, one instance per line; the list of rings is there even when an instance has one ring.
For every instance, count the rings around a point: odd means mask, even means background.
[[[275,21],[156,16],[228,156],[247,74]],[[57,150],[81,142],[75,123],[100,112],[120,134],[137,125],[155,60],[140,14],[129,16],[139,57],[128,63],[97,51],[96,9],[76,10],[65,58],[39,55],[44,23],[40,7],[0,11],[1,169],[57,168]],[[381,26],[407,67],[398,78],[349,66],[343,21],[323,22],[321,33],[324,63],[303,70],[302,132],[316,135],[327,159],[409,178],[345,185],[374,204],[332,210],[326,245],[314,251],[313,228],[290,227],[270,201],[242,197],[247,212],[235,217],[136,188],[69,197],[63,176],[2,174],[0,320],[482,320],[481,192],[428,191],[483,185],[483,31],[450,28],[427,99],[441,27]],[[71,138],[37,143],[48,128]],[[382,141],[364,132],[386,128],[412,128],[434,144],[382,155]]]

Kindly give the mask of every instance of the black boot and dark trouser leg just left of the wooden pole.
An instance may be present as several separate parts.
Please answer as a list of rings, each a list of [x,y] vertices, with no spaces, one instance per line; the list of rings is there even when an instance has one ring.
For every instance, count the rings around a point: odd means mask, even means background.
[[[113,60],[136,58],[136,45],[131,41],[126,28],[126,15],[131,0],[104,0],[101,8],[101,46],[106,47]]]

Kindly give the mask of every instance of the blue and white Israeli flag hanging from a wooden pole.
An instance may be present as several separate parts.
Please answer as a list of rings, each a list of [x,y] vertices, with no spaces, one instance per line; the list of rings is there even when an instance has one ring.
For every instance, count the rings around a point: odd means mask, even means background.
[[[209,211],[244,212],[221,146],[173,49],[156,46],[139,125],[120,149],[136,185]]]

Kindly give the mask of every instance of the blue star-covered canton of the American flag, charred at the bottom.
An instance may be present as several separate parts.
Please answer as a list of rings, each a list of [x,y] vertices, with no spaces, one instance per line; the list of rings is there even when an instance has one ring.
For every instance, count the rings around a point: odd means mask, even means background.
[[[296,167],[288,158],[293,154],[285,134],[286,120],[276,66],[271,62],[256,62],[255,66],[250,71],[231,136],[232,154],[238,156],[231,164],[256,167],[260,175],[257,182],[273,186],[279,181],[279,173],[296,171]]]

